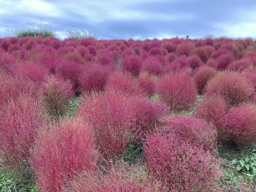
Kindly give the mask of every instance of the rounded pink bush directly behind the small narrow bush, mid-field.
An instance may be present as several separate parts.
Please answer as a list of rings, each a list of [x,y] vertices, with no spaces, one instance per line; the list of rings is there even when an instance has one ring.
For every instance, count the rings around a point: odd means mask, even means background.
[[[142,71],[148,71],[149,74],[160,75],[165,72],[164,66],[157,60],[156,57],[148,57],[143,61],[141,66]]]

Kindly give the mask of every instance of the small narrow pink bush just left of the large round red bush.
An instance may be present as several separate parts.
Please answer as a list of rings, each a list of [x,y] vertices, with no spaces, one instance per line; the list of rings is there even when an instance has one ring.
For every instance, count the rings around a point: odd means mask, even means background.
[[[140,72],[138,76],[140,89],[148,96],[156,92],[156,76],[149,75],[147,71]]]

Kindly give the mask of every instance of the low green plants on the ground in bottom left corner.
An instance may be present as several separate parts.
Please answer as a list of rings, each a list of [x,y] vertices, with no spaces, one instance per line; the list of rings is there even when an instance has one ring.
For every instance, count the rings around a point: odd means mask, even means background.
[[[36,192],[32,180],[20,180],[17,173],[0,171],[0,192]]]

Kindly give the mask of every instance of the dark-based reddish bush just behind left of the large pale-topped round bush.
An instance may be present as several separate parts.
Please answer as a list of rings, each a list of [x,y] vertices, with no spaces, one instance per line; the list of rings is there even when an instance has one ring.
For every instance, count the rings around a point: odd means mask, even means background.
[[[199,94],[203,93],[206,83],[216,74],[217,71],[212,67],[204,66],[198,69],[198,71],[194,75],[194,79]]]

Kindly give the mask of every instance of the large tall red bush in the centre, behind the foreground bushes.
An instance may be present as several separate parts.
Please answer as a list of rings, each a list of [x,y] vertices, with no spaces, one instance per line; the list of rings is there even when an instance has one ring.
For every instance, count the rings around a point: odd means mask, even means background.
[[[95,130],[95,142],[105,159],[123,153],[135,137],[131,104],[123,93],[108,89],[85,94],[79,109]]]

